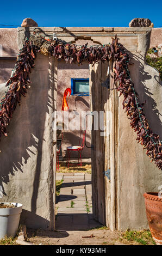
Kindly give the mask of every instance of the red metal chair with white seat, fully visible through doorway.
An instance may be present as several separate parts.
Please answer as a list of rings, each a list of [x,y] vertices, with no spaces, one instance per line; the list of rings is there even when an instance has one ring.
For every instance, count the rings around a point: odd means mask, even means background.
[[[82,136],[82,132],[83,132],[83,136]],[[82,137],[82,144],[80,144],[81,137]],[[67,161],[66,161],[67,168],[69,168],[69,166],[76,164],[76,163],[70,163],[70,155],[73,151],[78,151],[78,164],[77,165],[82,166],[82,150],[84,148],[84,143],[85,143],[85,132],[81,131],[80,138],[79,138],[79,145],[67,147]]]

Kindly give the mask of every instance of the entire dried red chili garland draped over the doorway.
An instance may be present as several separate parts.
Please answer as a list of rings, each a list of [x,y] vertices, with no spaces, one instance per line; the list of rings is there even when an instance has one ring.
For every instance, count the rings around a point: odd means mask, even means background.
[[[123,108],[126,109],[130,126],[136,131],[138,143],[147,149],[146,154],[152,158],[157,167],[162,170],[162,146],[159,135],[152,132],[148,120],[144,114],[144,103],[138,103],[138,94],[134,90],[134,84],[130,78],[128,65],[129,54],[118,42],[117,36],[112,44],[104,46],[83,45],[77,48],[74,44],[66,44],[63,41],[46,40],[40,35],[33,34],[20,50],[15,64],[14,74],[10,77],[6,86],[8,91],[1,101],[0,111],[0,137],[2,133],[7,136],[7,126],[13,117],[17,103],[20,104],[21,96],[25,96],[30,84],[29,74],[34,68],[36,53],[64,59],[66,62],[78,63],[87,61],[89,64],[105,62],[113,59],[115,62],[115,81],[119,82],[116,88],[123,95]]]

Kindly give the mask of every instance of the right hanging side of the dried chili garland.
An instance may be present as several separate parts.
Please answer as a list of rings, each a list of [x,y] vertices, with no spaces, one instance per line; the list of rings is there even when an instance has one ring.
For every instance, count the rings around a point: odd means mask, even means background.
[[[114,73],[115,81],[119,81],[117,91],[124,96],[122,105],[126,109],[130,126],[136,131],[138,143],[143,149],[147,149],[146,154],[152,158],[159,169],[162,169],[162,146],[159,135],[152,132],[148,120],[144,114],[144,104],[138,103],[138,94],[135,92],[134,84],[130,78],[128,64],[130,62],[129,54],[124,50],[121,44],[118,44],[117,37],[113,40],[111,47],[114,48]]]

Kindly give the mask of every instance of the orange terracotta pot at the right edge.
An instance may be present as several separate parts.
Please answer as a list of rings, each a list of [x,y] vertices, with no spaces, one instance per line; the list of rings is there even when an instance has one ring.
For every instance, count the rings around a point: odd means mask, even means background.
[[[157,245],[162,245],[162,198],[158,192],[147,192],[144,197],[149,229]]]

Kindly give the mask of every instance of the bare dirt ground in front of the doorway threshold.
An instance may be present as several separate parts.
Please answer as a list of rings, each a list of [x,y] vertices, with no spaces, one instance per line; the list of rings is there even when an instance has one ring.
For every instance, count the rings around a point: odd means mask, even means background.
[[[79,231],[28,230],[28,241],[34,245],[141,245],[136,241],[123,238],[124,233],[98,228]],[[84,237],[93,236],[93,237]],[[147,245],[152,245],[148,240]]]

